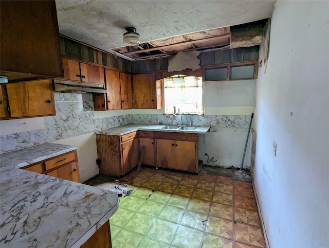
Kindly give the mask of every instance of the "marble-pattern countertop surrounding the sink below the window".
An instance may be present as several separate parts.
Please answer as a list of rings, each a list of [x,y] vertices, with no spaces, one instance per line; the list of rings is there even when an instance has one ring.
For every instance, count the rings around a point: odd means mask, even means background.
[[[195,130],[162,129],[165,126],[168,126],[168,125],[129,124],[129,125],[124,125],[124,126],[119,126],[119,127],[115,127],[115,128],[109,128],[109,129],[97,131],[96,134],[119,135],[119,136],[121,136],[121,135],[124,135],[124,134],[127,134],[127,133],[135,132],[137,130],[157,131],[157,132],[206,134],[206,132],[208,132],[209,129],[210,129],[210,127],[197,127]]]

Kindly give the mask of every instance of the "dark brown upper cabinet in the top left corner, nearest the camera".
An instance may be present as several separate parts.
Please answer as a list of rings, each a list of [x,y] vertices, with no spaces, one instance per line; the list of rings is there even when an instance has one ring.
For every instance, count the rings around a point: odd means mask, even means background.
[[[55,1],[1,1],[1,75],[9,82],[63,77]]]

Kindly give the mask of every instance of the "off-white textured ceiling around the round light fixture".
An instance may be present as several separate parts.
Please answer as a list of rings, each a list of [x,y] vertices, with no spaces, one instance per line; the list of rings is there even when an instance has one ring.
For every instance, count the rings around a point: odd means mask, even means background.
[[[269,17],[276,1],[57,0],[60,33],[104,51],[124,46],[133,26],[141,43]]]

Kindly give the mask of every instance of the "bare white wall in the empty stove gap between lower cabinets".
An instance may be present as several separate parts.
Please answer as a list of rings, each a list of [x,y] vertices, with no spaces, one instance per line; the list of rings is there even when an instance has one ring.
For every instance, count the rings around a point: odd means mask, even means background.
[[[96,165],[97,147],[95,132],[59,139],[51,143],[77,147],[80,181],[82,183],[99,174],[99,169]]]

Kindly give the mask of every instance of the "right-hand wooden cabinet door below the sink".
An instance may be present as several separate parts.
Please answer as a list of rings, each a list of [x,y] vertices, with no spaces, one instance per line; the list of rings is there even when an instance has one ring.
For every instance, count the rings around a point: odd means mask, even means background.
[[[195,142],[175,141],[175,168],[196,172],[195,166]]]

